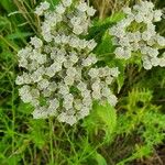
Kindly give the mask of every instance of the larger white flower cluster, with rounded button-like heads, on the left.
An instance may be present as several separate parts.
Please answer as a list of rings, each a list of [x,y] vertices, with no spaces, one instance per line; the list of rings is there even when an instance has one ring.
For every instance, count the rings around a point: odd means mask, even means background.
[[[94,100],[117,103],[109,87],[119,70],[98,67],[91,53],[96,42],[79,37],[90,25],[92,8],[85,2],[73,7],[72,0],[63,0],[47,11],[45,4],[48,7],[44,2],[36,9],[38,15],[45,15],[42,38],[31,37],[30,45],[18,53],[24,72],[15,82],[22,86],[21,99],[35,108],[35,119],[55,116],[73,125],[89,114]]]

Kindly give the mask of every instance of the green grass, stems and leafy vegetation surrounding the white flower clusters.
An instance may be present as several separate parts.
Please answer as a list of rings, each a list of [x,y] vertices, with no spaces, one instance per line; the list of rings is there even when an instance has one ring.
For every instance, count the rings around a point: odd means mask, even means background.
[[[47,1],[52,6],[58,3],[58,0]],[[113,85],[119,98],[116,108],[95,102],[90,116],[73,127],[53,117],[32,118],[33,109],[20,100],[15,85],[15,78],[22,72],[18,67],[16,53],[40,32],[40,20],[34,14],[40,2],[0,1],[0,164],[165,164],[162,156],[165,155],[165,69],[145,70],[139,62],[125,64],[110,56],[114,47],[108,28],[123,16],[121,12],[114,13],[122,6],[118,1],[110,1],[110,7],[116,4],[116,8],[103,13],[108,0],[102,0],[101,6],[91,0],[99,9],[87,36],[99,43],[95,53],[106,65],[120,67],[121,76]],[[154,2],[157,8],[165,6],[161,0]],[[156,23],[156,29],[165,36],[164,21]]]

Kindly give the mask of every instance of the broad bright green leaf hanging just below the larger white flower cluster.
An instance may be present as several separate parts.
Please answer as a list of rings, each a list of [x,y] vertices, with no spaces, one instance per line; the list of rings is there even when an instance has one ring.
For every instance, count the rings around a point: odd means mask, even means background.
[[[105,131],[105,142],[109,142],[116,131],[117,111],[109,103],[101,106],[95,102],[90,116],[84,120],[82,125],[90,134],[97,134],[100,130]]]

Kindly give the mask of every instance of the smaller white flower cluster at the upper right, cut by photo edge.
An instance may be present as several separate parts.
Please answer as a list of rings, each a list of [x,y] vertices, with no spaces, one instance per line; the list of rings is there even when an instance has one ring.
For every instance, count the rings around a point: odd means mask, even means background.
[[[143,67],[165,66],[165,57],[158,57],[158,50],[165,47],[165,37],[155,31],[154,22],[161,21],[162,11],[154,10],[154,4],[141,1],[133,9],[124,8],[125,18],[110,29],[118,58],[130,58],[132,53],[140,54]]]

